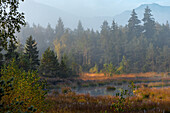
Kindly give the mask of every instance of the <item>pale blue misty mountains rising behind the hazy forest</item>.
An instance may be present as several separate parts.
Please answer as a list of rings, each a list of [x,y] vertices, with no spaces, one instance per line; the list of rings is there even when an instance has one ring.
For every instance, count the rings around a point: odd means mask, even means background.
[[[170,6],[161,6],[158,4],[143,4],[137,8],[135,8],[140,19],[143,18],[144,8],[149,6],[152,10],[152,14],[154,18],[159,23],[166,23],[166,21],[170,21]],[[62,11],[55,7],[51,7],[45,4],[41,4],[35,2],[34,0],[25,1],[21,7],[21,11],[24,11],[26,14],[26,21],[32,25],[35,23],[36,25],[40,24],[43,27],[46,27],[48,23],[54,28],[57,24],[57,20],[59,17],[62,18],[65,27],[74,29],[78,24],[78,21],[81,20],[84,28],[93,28],[94,30],[100,30],[101,23],[106,20],[111,23],[115,20],[119,25],[125,25],[130,18],[131,11],[124,11],[121,14],[113,15],[113,16],[95,16],[95,17],[81,17],[74,14],[70,14],[66,11]]]

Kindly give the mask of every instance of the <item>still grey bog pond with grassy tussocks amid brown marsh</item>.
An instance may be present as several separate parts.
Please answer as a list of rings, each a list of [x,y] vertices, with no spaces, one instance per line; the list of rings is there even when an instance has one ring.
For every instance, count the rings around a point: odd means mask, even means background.
[[[137,78],[133,80],[135,86],[137,87],[169,87],[169,79],[162,81],[161,78]],[[124,80],[105,80],[105,81],[96,81],[96,80],[69,80],[55,82],[53,87],[50,88],[50,91],[62,92],[63,87],[70,87],[73,92],[76,94],[89,94],[91,96],[116,96],[117,93],[122,91],[127,91],[127,95],[133,95],[131,79],[126,78]]]

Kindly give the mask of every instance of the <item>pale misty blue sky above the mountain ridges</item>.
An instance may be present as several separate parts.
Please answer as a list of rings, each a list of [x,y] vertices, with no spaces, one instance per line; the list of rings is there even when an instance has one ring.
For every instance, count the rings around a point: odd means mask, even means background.
[[[170,0],[34,0],[78,16],[114,16],[141,4],[170,6]]]

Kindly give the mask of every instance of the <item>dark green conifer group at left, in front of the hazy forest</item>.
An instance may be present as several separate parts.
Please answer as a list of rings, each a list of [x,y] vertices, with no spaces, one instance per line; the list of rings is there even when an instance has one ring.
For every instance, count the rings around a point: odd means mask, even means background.
[[[2,65],[8,65],[15,60],[17,65],[26,72],[38,71],[41,76],[52,78],[68,78],[75,76],[74,70],[67,65],[67,56],[63,55],[61,62],[53,50],[47,48],[39,60],[37,42],[32,36],[28,37],[25,47],[21,44],[8,45],[6,54],[1,54]],[[3,56],[5,59],[3,59]],[[2,65],[0,67],[2,67]]]

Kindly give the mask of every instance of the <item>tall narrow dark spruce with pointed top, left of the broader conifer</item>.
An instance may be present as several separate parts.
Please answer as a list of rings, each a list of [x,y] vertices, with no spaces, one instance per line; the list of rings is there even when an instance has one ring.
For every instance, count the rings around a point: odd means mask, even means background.
[[[36,70],[39,66],[39,59],[38,59],[38,53],[37,50],[37,43],[35,40],[30,36],[26,40],[26,46],[25,46],[25,57],[28,60],[28,67],[27,70]]]

